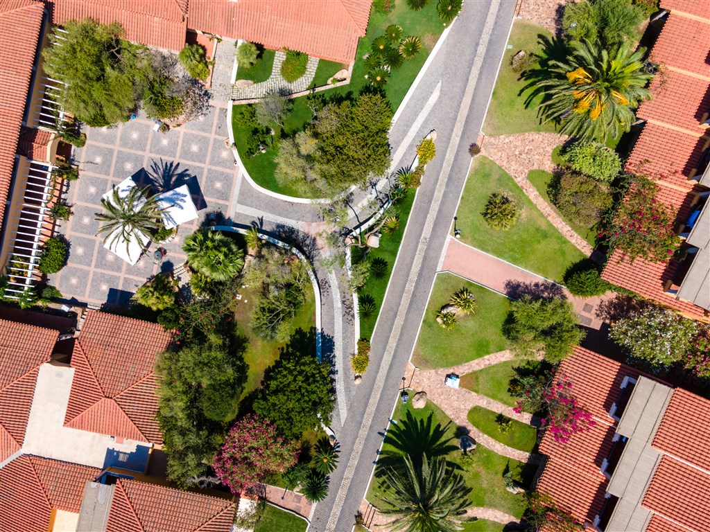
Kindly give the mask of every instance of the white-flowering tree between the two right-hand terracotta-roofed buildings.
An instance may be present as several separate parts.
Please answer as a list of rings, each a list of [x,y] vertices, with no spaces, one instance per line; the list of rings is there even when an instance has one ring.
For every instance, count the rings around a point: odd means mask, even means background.
[[[660,306],[647,306],[616,321],[609,338],[621,345],[631,362],[658,373],[685,359],[696,331],[694,321]]]

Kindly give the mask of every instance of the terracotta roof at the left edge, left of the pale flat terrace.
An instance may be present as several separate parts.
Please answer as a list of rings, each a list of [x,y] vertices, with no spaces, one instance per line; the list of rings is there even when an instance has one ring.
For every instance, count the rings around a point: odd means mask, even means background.
[[[0,320],[0,462],[20,450],[38,367],[50,360],[59,333]]]

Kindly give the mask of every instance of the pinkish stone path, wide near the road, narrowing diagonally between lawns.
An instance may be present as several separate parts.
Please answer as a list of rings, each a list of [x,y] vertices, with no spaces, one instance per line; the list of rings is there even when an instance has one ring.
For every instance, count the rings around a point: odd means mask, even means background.
[[[555,209],[552,209],[552,206],[528,181],[530,170],[545,170],[545,172],[557,170],[557,165],[552,162],[552,150],[565,140],[567,140],[566,135],[539,132],[485,137],[481,145],[481,153],[508,172],[557,231],[589,257],[594,248],[567,225],[567,222],[557,214]]]

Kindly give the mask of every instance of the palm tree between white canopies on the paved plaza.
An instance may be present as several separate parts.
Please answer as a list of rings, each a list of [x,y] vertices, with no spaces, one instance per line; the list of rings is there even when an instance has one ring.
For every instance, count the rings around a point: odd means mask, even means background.
[[[119,188],[114,187],[110,199],[102,198],[101,204],[106,211],[94,213],[94,216],[106,225],[99,227],[96,234],[104,233],[104,243],[109,243],[111,247],[123,239],[128,252],[131,242],[153,238],[153,233],[161,226],[162,209],[155,196],[148,196],[148,187],[131,187],[123,197],[119,194]]]

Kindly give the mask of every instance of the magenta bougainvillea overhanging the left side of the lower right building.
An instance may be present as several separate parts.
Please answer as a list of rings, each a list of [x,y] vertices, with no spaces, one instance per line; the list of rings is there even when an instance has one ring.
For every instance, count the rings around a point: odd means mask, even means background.
[[[572,382],[564,375],[555,375],[554,371],[551,375],[541,390],[525,391],[513,410],[518,414],[523,410],[536,411],[541,400],[547,411],[541,420],[542,429],[550,433],[557,443],[567,443],[574,433],[588,431],[596,423],[572,394]]]

